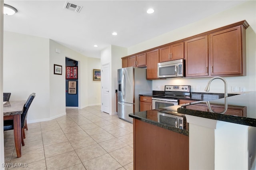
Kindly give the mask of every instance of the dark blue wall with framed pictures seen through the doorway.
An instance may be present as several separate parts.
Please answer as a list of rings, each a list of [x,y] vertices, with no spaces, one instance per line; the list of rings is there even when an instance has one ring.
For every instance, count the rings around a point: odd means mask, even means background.
[[[74,63],[76,63],[76,65],[74,65]],[[66,66],[78,67],[78,61],[74,61],[66,57]],[[65,74],[66,74],[66,67],[65,67]],[[68,94],[68,81],[76,81],[76,94]],[[66,107],[78,107],[78,79],[66,79]]]

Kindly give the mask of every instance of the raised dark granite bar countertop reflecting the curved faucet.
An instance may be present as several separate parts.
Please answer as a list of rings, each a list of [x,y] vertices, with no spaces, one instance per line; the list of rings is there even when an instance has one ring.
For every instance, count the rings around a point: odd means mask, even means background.
[[[225,99],[227,111],[225,109]],[[209,107],[212,109],[211,112]],[[256,127],[256,92],[182,105],[178,113]],[[224,113],[223,113],[224,112]]]

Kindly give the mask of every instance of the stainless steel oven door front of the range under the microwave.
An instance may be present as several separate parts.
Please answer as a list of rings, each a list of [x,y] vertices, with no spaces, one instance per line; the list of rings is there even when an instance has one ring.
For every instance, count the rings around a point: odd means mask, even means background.
[[[152,109],[160,109],[174,105],[178,105],[178,99],[152,98]]]

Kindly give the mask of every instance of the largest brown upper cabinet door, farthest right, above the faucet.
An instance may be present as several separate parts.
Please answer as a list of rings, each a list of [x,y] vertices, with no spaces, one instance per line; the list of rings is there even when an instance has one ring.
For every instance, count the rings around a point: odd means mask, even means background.
[[[210,34],[211,75],[242,74],[241,27]]]

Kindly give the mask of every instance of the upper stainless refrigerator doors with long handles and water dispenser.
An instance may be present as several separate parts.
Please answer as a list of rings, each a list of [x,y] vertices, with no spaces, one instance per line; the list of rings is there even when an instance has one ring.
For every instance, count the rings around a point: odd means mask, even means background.
[[[118,101],[134,103],[134,68],[118,69]]]

